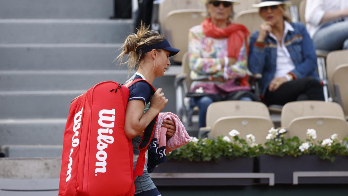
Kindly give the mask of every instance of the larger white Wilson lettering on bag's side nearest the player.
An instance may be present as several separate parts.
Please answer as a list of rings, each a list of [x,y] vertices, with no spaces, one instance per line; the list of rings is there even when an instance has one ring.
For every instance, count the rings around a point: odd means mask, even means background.
[[[106,116],[109,115],[109,116]],[[110,116],[111,115],[111,116]],[[106,158],[108,154],[104,151],[108,148],[108,144],[112,144],[114,141],[112,134],[112,129],[115,126],[115,109],[112,110],[100,110],[98,124],[103,128],[98,129],[97,136],[97,149],[98,152],[95,155],[97,160],[95,162],[95,173],[105,173],[106,172]],[[107,135],[110,134],[110,135]]]

